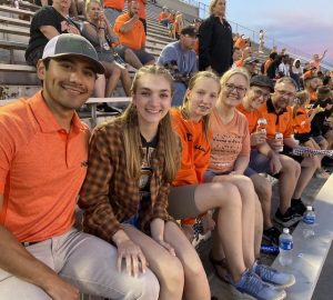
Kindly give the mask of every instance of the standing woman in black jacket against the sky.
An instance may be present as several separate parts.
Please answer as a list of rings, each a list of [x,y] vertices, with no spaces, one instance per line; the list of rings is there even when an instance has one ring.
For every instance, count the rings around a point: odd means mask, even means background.
[[[225,0],[211,0],[210,17],[199,29],[199,70],[222,76],[232,66],[232,29],[225,19]]]

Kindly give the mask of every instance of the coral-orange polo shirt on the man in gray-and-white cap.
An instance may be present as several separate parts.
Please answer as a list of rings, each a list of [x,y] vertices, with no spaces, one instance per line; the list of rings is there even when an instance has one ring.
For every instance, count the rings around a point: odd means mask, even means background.
[[[0,108],[0,224],[19,241],[42,241],[74,222],[89,129],[77,113],[67,133],[41,91]]]

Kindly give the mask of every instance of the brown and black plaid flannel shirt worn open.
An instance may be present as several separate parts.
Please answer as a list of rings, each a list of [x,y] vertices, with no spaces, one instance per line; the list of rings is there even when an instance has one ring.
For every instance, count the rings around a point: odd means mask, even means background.
[[[130,178],[127,172],[122,129],[121,120],[117,119],[94,130],[90,141],[88,173],[79,199],[79,207],[84,210],[84,231],[107,241],[111,241],[123,220],[138,212],[140,202],[139,179]],[[151,162],[151,207],[143,213],[142,230],[154,218],[172,219],[167,211],[170,182],[163,178],[164,142],[160,130]],[[138,151],[143,158],[141,146]],[[181,157],[181,146],[178,157]]]

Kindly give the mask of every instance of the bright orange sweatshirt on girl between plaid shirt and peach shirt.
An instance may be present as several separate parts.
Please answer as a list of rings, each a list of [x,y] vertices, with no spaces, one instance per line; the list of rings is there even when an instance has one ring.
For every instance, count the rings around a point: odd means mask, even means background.
[[[211,132],[205,138],[203,121],[185,120],[176,108],[171,109],[171,116],[182,141],[182,162],[172,186],[201,183],[210,161]]]

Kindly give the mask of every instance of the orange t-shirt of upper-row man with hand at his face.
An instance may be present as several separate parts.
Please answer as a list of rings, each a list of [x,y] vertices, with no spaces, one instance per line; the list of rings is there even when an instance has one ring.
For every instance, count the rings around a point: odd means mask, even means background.
[[[124,44],[133,50],[140,50],[144,48],[145,44],[144,28],[140,20],[137,20],[128,32],[122,33],[120,31],[121,27],[130,19],[131,17],[129,13],[119,16],[115,19],[113,30],[118,34],[121,44]]]

